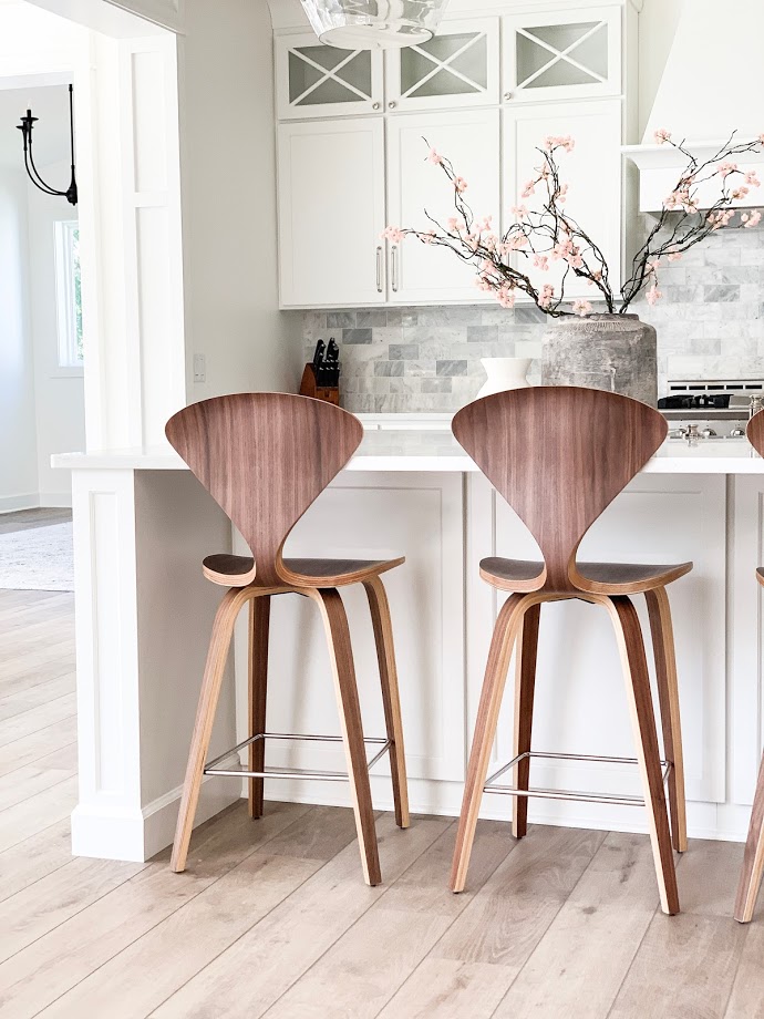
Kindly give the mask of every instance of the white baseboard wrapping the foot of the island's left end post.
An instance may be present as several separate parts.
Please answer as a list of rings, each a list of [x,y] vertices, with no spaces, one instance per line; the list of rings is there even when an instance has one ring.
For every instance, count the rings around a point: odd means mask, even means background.
[[[202,784],[196,824],[203,824],[238,800],[237,785],[220,776]],[[72,812],[72,854],[99,860],[143,863],[175,835],[182,786],[143,810],[112,810],[107,803],[79,804]]]

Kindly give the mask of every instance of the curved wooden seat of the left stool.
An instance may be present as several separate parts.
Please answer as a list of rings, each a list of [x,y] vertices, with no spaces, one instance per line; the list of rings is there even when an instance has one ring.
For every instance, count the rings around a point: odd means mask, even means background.
[[[296,576],[291,586],[313,587],[320,590],[362,584],[371,577],[379,577],[380,574],[401,566],[405,558],[401,556],[398,559],[283,559],[282,563],[289,573]],[[208,580],[225,587],[248,587],[257,583],[255,560],[251,556],[207,556],[202,568]],[[283,586],[287,589],[290,587],[286,580]]]

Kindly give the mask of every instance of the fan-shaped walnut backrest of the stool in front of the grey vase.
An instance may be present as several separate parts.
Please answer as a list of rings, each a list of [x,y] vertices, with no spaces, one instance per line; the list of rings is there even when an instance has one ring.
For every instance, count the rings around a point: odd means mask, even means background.
[[[536,538],[538,588],[570,593],[576,550],[665,439],[662,414],[596,389],[544,385],[476,400],[453,432]]]

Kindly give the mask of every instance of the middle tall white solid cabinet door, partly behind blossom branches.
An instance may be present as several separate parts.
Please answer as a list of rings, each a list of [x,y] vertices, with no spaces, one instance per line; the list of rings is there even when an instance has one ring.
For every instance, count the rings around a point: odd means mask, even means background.
[[[424,141],[426,140],[426,142]],[[388,122],[388,208],[393,226],[445,229],[454,215],[454,188],[427,161],[430,147],[447,156],[467,182],[465,197],[477,217],[499,214],[499,113],[471,110],[390,117]],[[426,210],[426,213],[425,213]],[[475,287],[476,270],[444,248],[415,239],[390,245],[388,297],[391,301],[453,302],[485,300]],[[489,298],[488,298],[489,299]]]

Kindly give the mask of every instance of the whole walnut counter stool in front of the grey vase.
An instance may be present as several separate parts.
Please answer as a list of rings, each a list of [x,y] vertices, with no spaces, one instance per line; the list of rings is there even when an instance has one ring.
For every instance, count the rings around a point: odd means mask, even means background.
[[[488,558],[481,576],[509,593],[499,611],[488,655],[462,804],[451,887],[462,892],[469,865],[483,792],[518,799],[517,837],[526,833],[536,649],[540,606],[579,598],[607,609],[616,630],[633,723],[638,763],[648,807],[650,838],[664,913],[679,912],[673,848],[686,848],[684,775],[671,615],[665,586],[692,569],[610,563],[577,563],[578,546],[667,434],[658,411],[615,393],[572,387],[539,387],[485,397],[454,418],[453,432],[488,481],[531,532],[543,563]],[[655,655],[665,761],[661,761],[642,632],[631,595],[644,594]],[[515,758],[487,779],[491,749],[509,659],[518,642],[515,699]],[[540,756],[564,756],[541,754]],[[612,761],[608,758],[587,760]],[[492,784],[515,769],[515,786]],[[664,770],[665,769],[665,774]],[[669,830],[664,779],[669,781]],[[602,801],[596,795],[568,796]],[[608,802],[642,803],[633,797]]]

